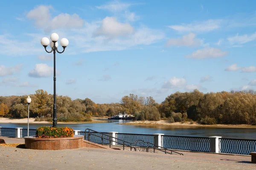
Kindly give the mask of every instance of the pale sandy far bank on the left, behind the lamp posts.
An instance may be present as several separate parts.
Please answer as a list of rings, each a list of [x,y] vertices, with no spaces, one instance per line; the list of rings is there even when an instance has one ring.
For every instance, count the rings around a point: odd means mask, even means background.
[[[28,123],[27,118],[4,118],[0,117],[0,123]],[[31,124],[52,124],[52,122],[47,121],[35,121],[35,118],[29,118],[29,123]],[[106,123],[106,121],[92,119],[91,122],[58,122],[58,124],[81,124],[81,123]]]

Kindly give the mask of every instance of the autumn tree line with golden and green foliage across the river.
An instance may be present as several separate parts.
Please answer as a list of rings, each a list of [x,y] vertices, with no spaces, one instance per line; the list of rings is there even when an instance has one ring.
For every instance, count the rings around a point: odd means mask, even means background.
[[[30,95],[30,116],[36,120],[52,120],[53,95],[37,90]],[[27,96],[0,96],[1,117],[27,117]],[[201,124],[256,124],[255,91],[231,91],[203,94],[198,90],[176,92],[157,103],[153,97],[130,94],[120,103],[96,104],[91,99],[72,100],[57,96],[58,121],[91,121],[90,116],[133,114],[137,120],[169,122],[198,121]]]

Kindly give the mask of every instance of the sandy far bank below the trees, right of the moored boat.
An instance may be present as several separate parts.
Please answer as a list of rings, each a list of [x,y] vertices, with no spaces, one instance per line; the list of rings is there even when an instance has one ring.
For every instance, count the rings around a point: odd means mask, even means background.
[[[133,122],[126,122],[126,123],[120,123],[121,125],[138,125],[138,126],[173,126],[173,127],[232,127],[232,128],[256,128],[256,126],[253,125],[223,125],[223,124],[217,124],[217,125],[201,125],[197,122],[194,122],[191,124],[190,122],[175,122],[175,123],[169,123],[166,120],[159,120],[159,121],[133,121]]]

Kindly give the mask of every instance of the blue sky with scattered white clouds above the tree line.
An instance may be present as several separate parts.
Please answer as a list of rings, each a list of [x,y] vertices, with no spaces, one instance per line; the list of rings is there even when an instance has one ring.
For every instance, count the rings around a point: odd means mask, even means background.
[[[255,90],[255,6],[254,0],[4,1],[0,95],[53,93],[53,54],[40,43],[53,32],[69,40],[57,54],[58,95],[111,103],[133,93],[162,102],[176,91]]]

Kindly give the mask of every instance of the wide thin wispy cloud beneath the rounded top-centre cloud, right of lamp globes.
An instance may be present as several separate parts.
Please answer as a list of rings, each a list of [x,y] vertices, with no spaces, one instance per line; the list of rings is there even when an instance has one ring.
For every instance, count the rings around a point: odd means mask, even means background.
[[[141,27],[134,30],[132,34],[118,37],[109,37],[107,35],[96,36],[95,30],[99,29],[98,23],[87,23],[86,27],[81,29],[78,34],[69,35],[76,47],[81,52],[95,51],[120,51],[137,45],[151,45],[162,40],[165,35],[162,31]],[[114,33],[113,33],[114,34]]]

